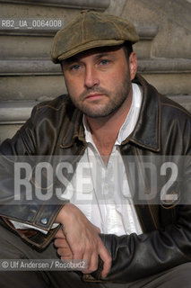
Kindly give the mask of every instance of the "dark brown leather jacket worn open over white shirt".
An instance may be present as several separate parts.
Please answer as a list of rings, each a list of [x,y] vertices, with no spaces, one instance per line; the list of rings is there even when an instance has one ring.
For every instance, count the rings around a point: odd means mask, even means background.
[[[85,281],[130,282],[191,260],[190,114],[159,94],[142,76],[137,75],[135,82],[143,86],[142,108],[134,132],[120,147],[130,188],[135,190],[132,191],[135,195],[139,189],[145,195],[151,192],[151,175],[142,175],[140,163],[143,157],[152,159],[168,155],[176,156],[176,161],[179,161],[179,156],[187,156],[184,172],[181,171],[173,192],[170,192],[174,193],[178,189],[178,195],[183,199],[186,197],[187,201],[181,202],[178,198],[176,202],[162,203],[156,193],[156,202],[148,200],[149,197],[145,197],[143,202],[135,202],[143,234],[137,236],[133,233],[121,237],[100,234],[113,259],[111,271],[106,279],[101,280],[100,261],[98,271],[92,275],[83,275]],[[37,105],[29,121],[13,139],[4,141],[0,152],[11,156],[56,155],[70,158],[73,155],[76,163],[86,147],[82,112],[74,107],[68,96],[61,95],[53,101]],[[131,181],[132,171],[126,156],[134,156],[137,175],[135,182]],[[1,178],[4,179],[0,184],[2,224],[15,230],[7,220],[13,219],[47,229],[47,236],[32,229],[15,231],[35,247],[44,248],[54,238],[56,229],[50,228],[65,202],[56,200],[51,205],[51,202],[39,202],[38,197],[34,196],[30,204],[22,199],[14,206],[10,179],[6,178],[4,172],[6,161],[7,158],[2,157],[0,164]],[[159,180],[160,191],[166,180],[161,175]]]

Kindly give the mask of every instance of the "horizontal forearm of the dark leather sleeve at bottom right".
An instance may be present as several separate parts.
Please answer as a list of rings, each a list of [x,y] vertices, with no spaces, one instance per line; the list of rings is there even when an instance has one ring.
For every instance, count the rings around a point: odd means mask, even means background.
[[[190,208],[178,207],[176,224],[149,233],[100,235],[113,259],[104,281],[127,283],[191,261]]]

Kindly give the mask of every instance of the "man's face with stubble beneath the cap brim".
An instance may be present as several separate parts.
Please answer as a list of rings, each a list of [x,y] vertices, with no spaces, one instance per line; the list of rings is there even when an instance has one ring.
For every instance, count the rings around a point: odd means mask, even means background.
[[[65,84],[74,105],[91,118],[116,112],[131,92],[131,67],[123,48],[92,49],[64,60]]]

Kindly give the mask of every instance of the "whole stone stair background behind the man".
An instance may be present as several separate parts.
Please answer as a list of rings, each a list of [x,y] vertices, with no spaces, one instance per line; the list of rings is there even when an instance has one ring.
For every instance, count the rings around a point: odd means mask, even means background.
[[[132,21],[138,72],[191,112],[191,0],[0,0],[0,142],[36,103],[66,93],[51,41],[84,9]]]

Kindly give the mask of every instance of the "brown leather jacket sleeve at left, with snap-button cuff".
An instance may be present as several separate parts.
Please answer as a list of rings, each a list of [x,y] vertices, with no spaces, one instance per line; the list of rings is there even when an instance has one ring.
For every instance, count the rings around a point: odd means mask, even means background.
[[[0,215],[3,225],[15,230],[17,233],[38,247],[45,247],[49,240],[54,237],[56,229],[50,229],[57,213],[65,204],[65,200],[58,200],[54,195],[48,201],[39,199],[36,193],[36,185],[29,182],[30,193],[25,191],[21,185],[21,191],[16,191],[15,185],[15,163],[27,162],[34,166],[35,161],[32,157],[37,153],[37,128],[35,125],[38,107],[35,107],[28,120],[21,130],[18,130],[13,139],[6,139],[0,146]],[[44,145],[41,143],[41,146]],[[22,171],[22,170],[21,170]],[[27,197],[29,196],[29,197]],[[21,221],[32,225],[31,229],[14,229],[10,220]],[[48,231],[47,235],[35,230],[36,228]]]

